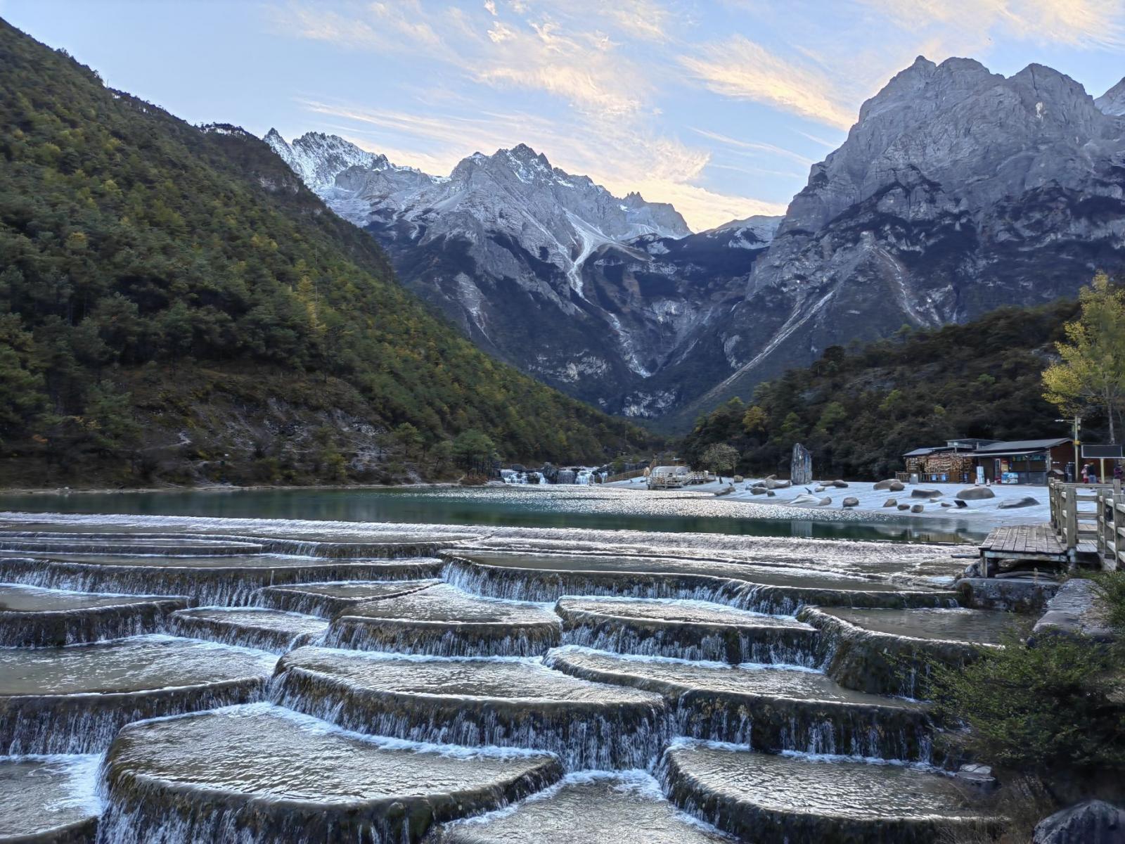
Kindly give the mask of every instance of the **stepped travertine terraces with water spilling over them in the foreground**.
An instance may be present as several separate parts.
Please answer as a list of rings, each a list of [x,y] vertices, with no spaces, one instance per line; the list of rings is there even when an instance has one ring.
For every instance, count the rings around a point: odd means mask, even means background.
[[[29,521],[0,532],[0,842],[920,844],[996,823],[924,701],[865,689],[862,656],[831,673],[855,630],[994,640],[1004,617],[955,607],[948,547]]]

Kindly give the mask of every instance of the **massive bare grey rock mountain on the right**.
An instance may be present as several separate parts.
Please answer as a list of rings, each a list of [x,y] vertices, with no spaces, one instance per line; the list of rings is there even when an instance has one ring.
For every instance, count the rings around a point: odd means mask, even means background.
[[[813,165],[744,300],[684,361],[722,347],[719,385],[672,421],[836,343],[1073,295],[1125,266],[1123,197],[1125,123],[1072,79],[919,57]]]

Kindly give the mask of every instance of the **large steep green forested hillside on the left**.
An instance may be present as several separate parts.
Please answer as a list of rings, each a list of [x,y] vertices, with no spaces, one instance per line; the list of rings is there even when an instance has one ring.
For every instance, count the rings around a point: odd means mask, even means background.
[[[3,21],[0,68],[0,483],[378,481],[442,472],[458,436],[523,461],[645,439],[433,316],[260,140]]]

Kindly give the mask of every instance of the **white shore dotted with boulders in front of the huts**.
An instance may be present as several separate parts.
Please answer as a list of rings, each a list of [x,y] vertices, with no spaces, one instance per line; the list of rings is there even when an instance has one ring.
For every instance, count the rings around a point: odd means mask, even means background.
[[[998,524],[1027,524],[1027,523],[1040,523],[1050,521],[1051,519],[1051,505],[1047,499],[1047,488],[1045,486],[1023,486],[1023,485],[994,485],[988,487],[994,494],[994,499],[986,499],[983,501],[968,501],[965,502],[968,506],[958,508],[954,503],[954,497],[961,491],[966,488],[965,484],[907,484],[906,490],[902,492],[888,492],[885,490],[875,490],[874,482],[870,481],[849,481],[847,482],[847,488],[834,488],[826,484],[825,482],[816,482],[812,484],[804,484],[799,486],[789,487],[785,490],[775,490],[774,497],[768,497],[766,495],[752,495],[750,487],[753,482],[758,478],[747,478],[740,484],[735,484],[735,492],[729,495],[722,496],[722,501],[738,501],[742,503],[750,504],[763,504],[763,505],[785,505],[795,506],[801,510],[809,511],[810,518],[816,518],[816,513],[842,510],[844,499],[855,497],[858,499],[860,504],[855,508],[848,508],[852,512],[871,512],[879,513],[880,515],[897,515],[910,519],[964,519],[966,521],[979,522],[982,528],[991,528]],[[698,486],[686,486],[684,491],[699,492],[699,493],[716,493],[720,490],[724,490],[731,483],[730,478],[724,478],[723,483],[712,482],[710,484],[700,484]],[[821,493],[812,492],[824,484],[826,486],[825,491]],[[634,488],[644,490],[645,478],[634,478],[632,481],[618,481],[609,486],[622,487],[622,488]],[[914,490],[938,490],[942,493],[939,499],[919,499],[912,497],[911,491]],[[798,495],[803,495],[811,493],[817,497],[830,497],[831,504],[826,504],[824,506],[817,506],[816,504],[793,504],[793,499]],[[681,491],[672,491],[668,494],[682,494]],[[1004,502],[1018,501],[1024,497],[1033,497],[1038,503],[1034,506],[1024,506],[1016,509],[1000,509],[1000,504]],[[898,510],[897,508],[884,508],[883,504],[888,499],[894,499],[899,504],[922,504],[925,510],[920,513],[911,513],[908,510]],[[942,502],[951,504],[951,506],[943,508]]]

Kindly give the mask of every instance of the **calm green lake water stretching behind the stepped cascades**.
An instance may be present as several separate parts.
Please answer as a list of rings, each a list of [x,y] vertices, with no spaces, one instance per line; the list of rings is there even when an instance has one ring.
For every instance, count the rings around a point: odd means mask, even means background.
[[[598,486],[348,490],[195,490],[0,495],[0,510],[410,524],[640,530],[914,542],[975,542],[988,533],[956,519],[808,511],[724,501],[706,493]]]

